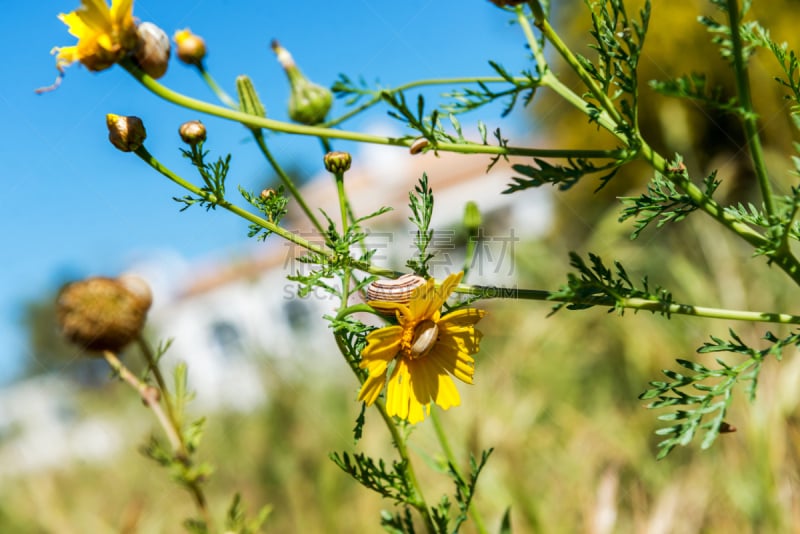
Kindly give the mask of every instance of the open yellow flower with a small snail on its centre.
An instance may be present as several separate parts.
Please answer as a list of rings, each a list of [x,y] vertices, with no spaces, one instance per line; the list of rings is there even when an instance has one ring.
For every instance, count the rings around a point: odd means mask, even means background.
[[[451,274],[438,288],[433,279],[428,280],[408,304],[368,302],[377,310],[393,311],[399,324],[367,335],[359,366],[367,369],[369,376],[358,395],[359,401],[374,403],[386,385],[386,411],[410,423],[430,414],[430,403],[444,410],[461,403],[452,377],[472,383],[472,355],[478,352],[481,340],[475,323],[486,315],[476,308],[441,315],[442,305],[462,276],[463,273]],[[394,368],[387,383],[392,363]]]

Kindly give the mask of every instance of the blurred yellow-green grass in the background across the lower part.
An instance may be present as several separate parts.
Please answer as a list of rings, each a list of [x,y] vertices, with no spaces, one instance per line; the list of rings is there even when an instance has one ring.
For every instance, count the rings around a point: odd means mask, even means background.
[[[749,260],[701,216],[677,231],[646,232],[643,247],[611,223],[600,221],[602,232],[585,250],[607,262],[619,259],[632,278],[658,273],[651,282],[671,289],[677,302],[792,310],[787,280],[762,259]],[[522,286],[554,288],[563,281],[565,250],[547,242],[520,247]],[[719,267],[712,271],[712,265]],[[728,417],[738,431],[720,436],[708,451],[692,444],[656,461],[657,414],[637,400],[660,369],[692,357],[709,334],[724,337],[733,327],[758,345],[765,330],[784,329],[644,313],[618,317],[602,309],[545,319],[550,306],[542,302],[488,307],[476,384],[460,388],[462,406],[445,412],[443,422],[464,465],[469,452],[495,448],[476,501],[492,531],[507,506],[514,531],[523,533],[788,532],[798,524],[795,354],[766,363],[754,404],[739,392]],[[709,356],[699,358],[713,364]],[[258,361],[269,402],[251,414],[209,418],[202,457],[217,466],[208,486],[216,517],[241,491],[251,512],[273,505],[268,531],[378,531],[379,510],[391,503],[362,490],[327,458],[352,449],[359,407],[345,367],[333,373],[304,368],[299,354],[296,373]],[[5,480],[0,532],[180,532],[193,510],[167,474],[136,452],[146,437],[140,423],[150,425],[138,400],[113,384],[85,393],[83,402],[106,416],[121,414],[130,445],[113,462]],[[392,458],[375,414],[369,413],[358,448]],[[414,431],[411,449],[429,501],[452,491],[426,465],[426,457],[440,456],[428,423]]]

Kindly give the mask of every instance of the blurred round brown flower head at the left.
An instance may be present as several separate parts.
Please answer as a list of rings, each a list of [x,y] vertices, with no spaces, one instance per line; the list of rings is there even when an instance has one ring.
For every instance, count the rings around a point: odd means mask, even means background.
[[[150,307],[144,281],[131,290],[131,277],[92,277],[64,286],[56,300],[56,318],[62,334],[90,351],[116,352],[142,331]]]

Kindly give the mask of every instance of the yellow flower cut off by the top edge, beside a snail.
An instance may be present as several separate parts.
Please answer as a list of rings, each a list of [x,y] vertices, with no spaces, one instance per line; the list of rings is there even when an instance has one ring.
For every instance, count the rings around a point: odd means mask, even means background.
[[[80,61],[93,71],[104,70],[117,63],[137,46],[136,24],[133,20],[133,0],[81,0],[81,6],[59,20],[78,38],[75,46],[56,47],[56,67]]]

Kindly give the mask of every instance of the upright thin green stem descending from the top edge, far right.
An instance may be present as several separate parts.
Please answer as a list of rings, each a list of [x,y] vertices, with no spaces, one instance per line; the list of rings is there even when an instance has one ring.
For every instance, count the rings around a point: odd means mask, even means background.
[[[731,28],[731,41],[733,43],[733,66],[736,74],[736,91],[739,103],[745,109],[742,117],[747,146],[750,148],[750,157],[753,159],[753,168],[758,179],[758,187],[764,200],[764,209],[771,217],[775,215],[775,202],[772,198],[772,185],[767,176],[767,164],[764,161],[764,149],[761,146],[761,136],[758,133],[758,124],[753,109],[753,98],[750,91],[750,78],[747,73],[747,63],[742,49],[742,35],[739,32],[739,5],[737,0],[728,0],[728,20]]]

